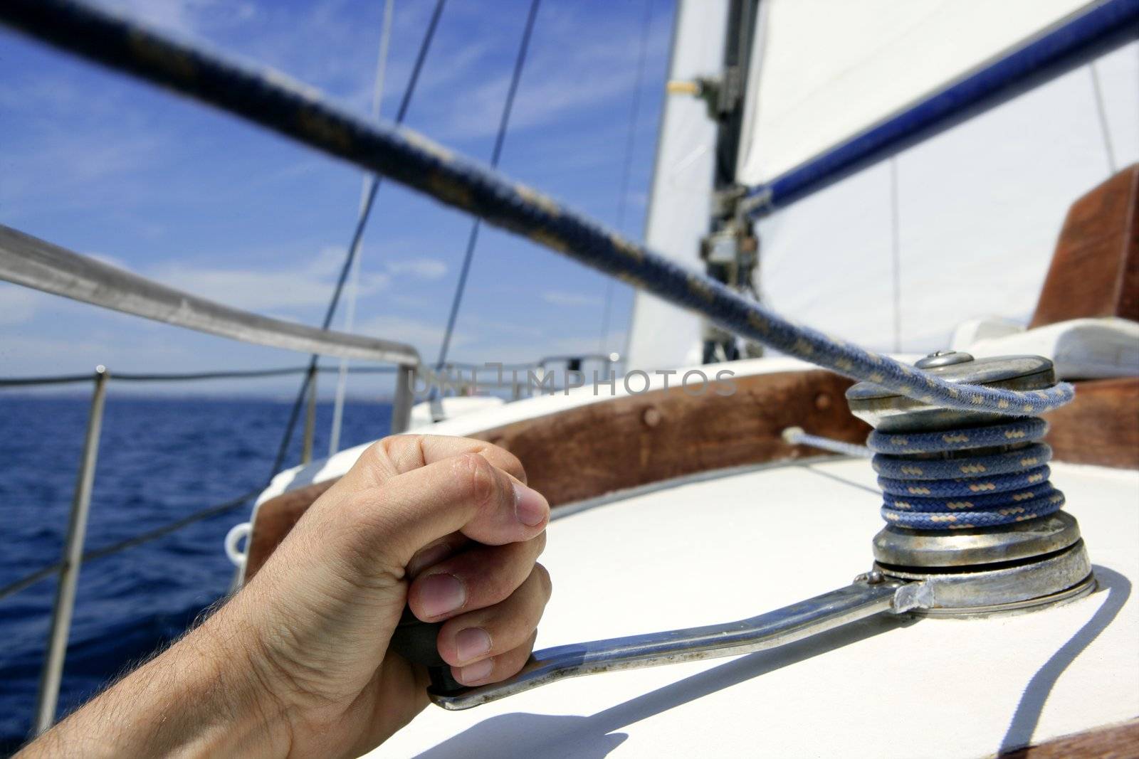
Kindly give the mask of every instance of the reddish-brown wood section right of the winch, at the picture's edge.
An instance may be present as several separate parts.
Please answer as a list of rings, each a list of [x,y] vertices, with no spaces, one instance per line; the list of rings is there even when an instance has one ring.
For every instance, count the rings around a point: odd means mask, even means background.
[[[1139,469],[1139,377],[1075,382],[1075,401],[1046,419],[1057,461]]]

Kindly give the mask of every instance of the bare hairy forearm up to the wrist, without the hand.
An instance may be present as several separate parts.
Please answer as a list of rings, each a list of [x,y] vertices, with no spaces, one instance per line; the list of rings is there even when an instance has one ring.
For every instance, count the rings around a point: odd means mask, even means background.
[[[287,725],[259,688],[226,610],[28,745],[22,757],[284,757]]]

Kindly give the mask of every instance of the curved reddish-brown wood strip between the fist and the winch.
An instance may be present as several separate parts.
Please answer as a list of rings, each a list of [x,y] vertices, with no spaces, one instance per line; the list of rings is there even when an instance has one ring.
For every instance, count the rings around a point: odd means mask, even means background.
[[[846,410],[851,381],[827,371],[734,378],[735,393],[682,388],[615,398],[476,435],[514,453],[551,504],[695,472],[814,452],[788,427],[851,443],[870,428]],[[816,452],[817,453],[817,452]]]

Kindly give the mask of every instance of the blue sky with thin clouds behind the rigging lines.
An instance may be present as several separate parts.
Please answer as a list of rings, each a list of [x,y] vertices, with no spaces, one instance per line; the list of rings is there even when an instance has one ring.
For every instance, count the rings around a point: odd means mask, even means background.
[[[646,0],[543,0],[500,167],[615,223]],[[179,35],[281,69],[367,113],[380,0],[105,0]],[[396,0],[391,117],[432,0]],[[487,159],[528,0],[450,0],[407,124]],[[673,3],[653,0],[623,231],[641,237]],[[0,30],[0,222],[191,292],[319,323],[361,174],[232,117]],[[469,217],[385,184],[363,245],[357,331],[434,358]],[[451,356],[596,352],[606,282],[484,228]],[[616,284],[607,350],[631,291]],[[343,313],[343,312],[341,312]],[[0,376],[278,366],[303,357],[0,284]],[[194,393],[288,391],[295,381]],[[326,382],[326,389],[331,382]],[[147,388],[154,390],[155,386]],[[354,395],[382,390],[358,379]]]

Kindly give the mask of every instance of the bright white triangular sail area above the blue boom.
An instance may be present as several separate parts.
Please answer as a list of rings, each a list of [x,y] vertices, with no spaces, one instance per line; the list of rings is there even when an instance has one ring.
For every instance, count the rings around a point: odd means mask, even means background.
[[[738,180],[770,181],[1093,5],[764,0]]]

